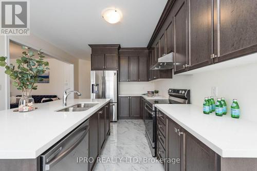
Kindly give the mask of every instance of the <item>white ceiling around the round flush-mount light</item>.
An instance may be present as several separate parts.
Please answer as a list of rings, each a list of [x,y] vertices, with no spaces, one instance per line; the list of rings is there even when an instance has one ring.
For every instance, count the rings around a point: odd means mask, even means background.
[[[33,0],[30,31],[81,59],[90,59],[88,44],[146,47],[167,0]],[[105,22],[101,13],[117,8],[118,24]]]

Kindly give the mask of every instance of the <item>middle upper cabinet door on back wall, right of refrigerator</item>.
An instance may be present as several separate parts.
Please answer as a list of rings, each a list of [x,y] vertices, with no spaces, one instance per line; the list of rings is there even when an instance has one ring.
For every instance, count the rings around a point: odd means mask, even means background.
[[[128,81],[138,81],[138,56],[130,56],[128,66]]]

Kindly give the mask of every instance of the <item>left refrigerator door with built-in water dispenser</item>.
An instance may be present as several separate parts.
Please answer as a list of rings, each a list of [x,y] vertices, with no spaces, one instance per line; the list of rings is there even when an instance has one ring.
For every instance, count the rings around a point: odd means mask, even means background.
[[[103,71],[91,71],[91,99],[103,99],[104,98],[104,73]]]

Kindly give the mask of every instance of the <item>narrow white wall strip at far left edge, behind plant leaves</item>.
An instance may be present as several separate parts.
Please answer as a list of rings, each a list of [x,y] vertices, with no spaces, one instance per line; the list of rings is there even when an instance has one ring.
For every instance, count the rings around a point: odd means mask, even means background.
[[[6,56],[6,41],[4,36],[0,36],[0,56]],[[5,68],[0,67],[0,110],[6,109],[6,92]]]

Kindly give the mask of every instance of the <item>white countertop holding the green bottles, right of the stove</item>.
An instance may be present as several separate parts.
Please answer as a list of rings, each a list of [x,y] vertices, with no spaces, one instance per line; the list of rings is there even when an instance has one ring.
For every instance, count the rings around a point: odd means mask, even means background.
[[[205,115],[202,108],[186,104],[157,104],[165,113],[218,155],[227,158],[257,158],[257,123],[223,117],[212,112]]]

